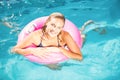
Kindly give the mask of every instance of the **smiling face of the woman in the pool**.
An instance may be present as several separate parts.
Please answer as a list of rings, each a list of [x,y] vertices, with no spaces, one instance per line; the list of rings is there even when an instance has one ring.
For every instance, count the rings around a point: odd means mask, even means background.
[[[46,25],[46,32],[49,34],[49,36],[55,37],[63,29],[64,21],[60,18],[51,18],[51,20],[48,21]]]

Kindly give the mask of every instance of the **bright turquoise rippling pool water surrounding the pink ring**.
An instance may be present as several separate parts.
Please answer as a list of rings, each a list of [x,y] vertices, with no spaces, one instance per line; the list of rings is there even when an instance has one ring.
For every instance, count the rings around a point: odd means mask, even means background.
[[[120,0],[0,0],[0,80],[120,80]],[[33,63],[10,49],[31,20],[59,11],[78,28],[87,26],[83,61],[68,60],[61,70]],[[96,32],[95,27],[99,28]]]

